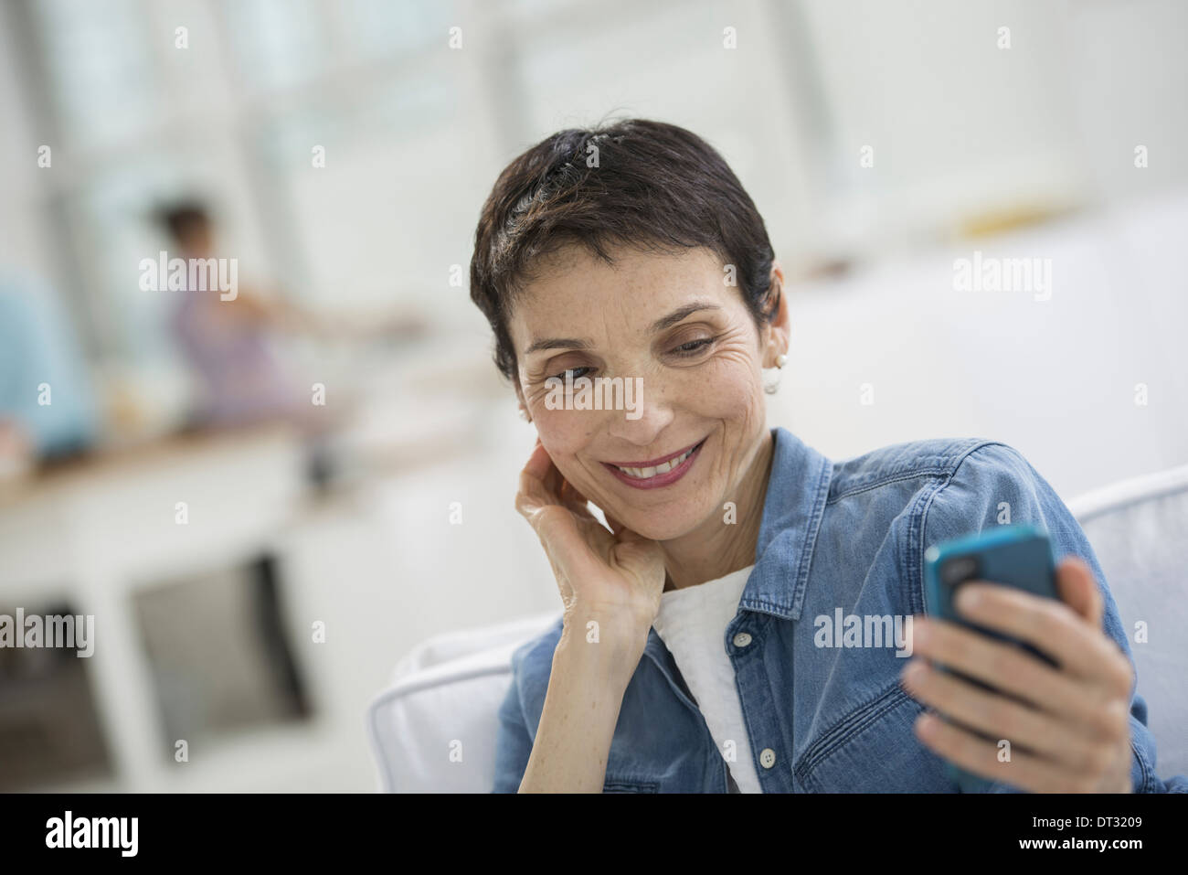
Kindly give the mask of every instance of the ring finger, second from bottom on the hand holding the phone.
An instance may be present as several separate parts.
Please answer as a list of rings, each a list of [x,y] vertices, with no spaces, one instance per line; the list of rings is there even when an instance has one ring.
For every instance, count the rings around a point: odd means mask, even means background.
[[[991,738],[1060,762],[1072,769],[1093,769],[1105,749],[1064,725],[1053,715],[980,690],[956,675],[912,660],[903,674],[904,687],[917,701],[930,705],[959,724]]]

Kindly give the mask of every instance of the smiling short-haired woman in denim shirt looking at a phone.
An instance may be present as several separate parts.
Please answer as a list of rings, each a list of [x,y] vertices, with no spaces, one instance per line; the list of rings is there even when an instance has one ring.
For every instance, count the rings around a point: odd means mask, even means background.
[[[769,429],[784,276],[699,137],[630,120],[527,150],[484,204],[470,282],[537,429],[516,504],[564,603],[516,653],[497,792],[948,792],[946,761],[998,791],[1167,788],[1101,568],[1018,452],[929,440],[833,462]],[[937,618],[906,644],[819,634],[924,613],[927,546],[1004,508],[1047,529],[1063,603],[968,585],[960,609],[1055,666]]]

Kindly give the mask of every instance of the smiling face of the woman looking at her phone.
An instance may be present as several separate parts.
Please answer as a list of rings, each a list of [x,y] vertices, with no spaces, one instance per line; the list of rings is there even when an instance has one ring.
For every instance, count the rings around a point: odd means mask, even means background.
[[[762,369],[786,348],[786,310],[757,328],[706,248],[612,254],[613,267],[570,246],[537,266],[508,321],[517,394],[570,484],[665,541],[721,522],[723,504],[739,501],[766,432]],[[576,391],[546,383],[567,372],[576,389],[580,377],[630,380],[639,397],[574,409]]]

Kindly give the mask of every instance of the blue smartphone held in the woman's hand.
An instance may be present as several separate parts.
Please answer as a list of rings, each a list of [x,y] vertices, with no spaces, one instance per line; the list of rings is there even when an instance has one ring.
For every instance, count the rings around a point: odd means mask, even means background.
[[[1032,596],[1059,599],[1056,564],[1048,537],[1031,525],[1001,525],[934,544],[924,552],[924,586],[930,613],[998,641],[1017,644],[1036,659],[1055,667],[1056,663],[1047,654],[1032,646],[971,623],[958,613],[953,599],[961,585],[971,580],[1013,586]],[[936,667],[982,690],[1009,695],[955,669],[941,665]],[[943,715],[940,716],[943,718]],[[998,741],[981,732],[975,735],[991,742]],[[962,793],[978,793],[991,786],[991,781],[985,778],[971,774],[953,763],[947,763],[947,772]]]

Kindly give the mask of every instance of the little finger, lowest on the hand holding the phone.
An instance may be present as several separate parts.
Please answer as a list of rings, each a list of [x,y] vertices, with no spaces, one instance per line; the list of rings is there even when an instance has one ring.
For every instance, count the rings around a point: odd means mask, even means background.
[[[1011,758],[1000,762],[997,744],[946,723],[936,715],[921,715],[914,729],[916,737],[929,750],[987,780],[1032,793],[1080,793],[1092,788],[1083,775],[1025,751],[1011,749]]]

